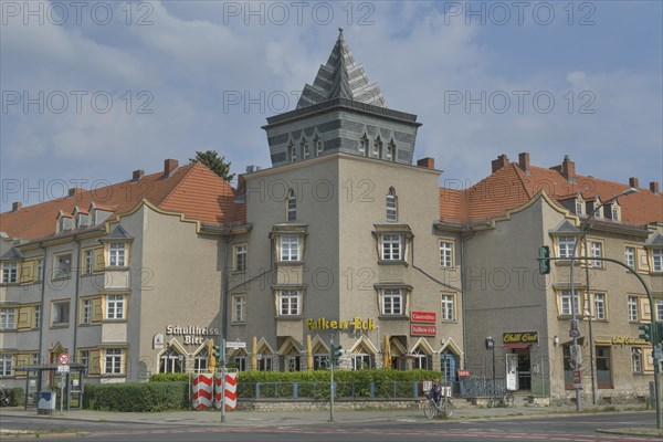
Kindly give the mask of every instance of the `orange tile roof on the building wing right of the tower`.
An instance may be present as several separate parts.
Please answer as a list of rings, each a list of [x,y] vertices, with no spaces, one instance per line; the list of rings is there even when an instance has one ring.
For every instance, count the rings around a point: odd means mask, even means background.
[[[629,189],[628,185],[576,175],[569,181],[558,170],[529,166],[525,172],[517,162],[509,162],[469,189],[440,189],[440,220],[473,224],[504,215],[544,190],[554,201],[573,198],[578,192],[585,200],[596,196],[601,201]],[[649,189],[621,197],[621,221],[642,225],[663,221],[663,196]],[[561,203],[559,203],[560,207]]]

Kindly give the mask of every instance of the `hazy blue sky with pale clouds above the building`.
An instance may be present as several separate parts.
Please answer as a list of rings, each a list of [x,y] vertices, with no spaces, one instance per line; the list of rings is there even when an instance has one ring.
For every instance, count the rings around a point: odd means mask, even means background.
[[[217,150],[271,166],[266,118],[295,108],[344,28],[414,158],[466,188],[501,154],[663,182],[660,1],[0,0],[1,211]]]

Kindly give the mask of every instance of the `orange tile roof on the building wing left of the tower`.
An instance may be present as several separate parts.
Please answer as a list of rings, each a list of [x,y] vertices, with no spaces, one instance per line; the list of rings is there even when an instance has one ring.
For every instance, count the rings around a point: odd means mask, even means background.
[[[134,209],[144,198],[160,209],[185,213],[203,223],[243,221],[236,217],[239,210],[233,202],[232,187],[203,165],[190,164],[176,169],[168,178],[159,171],[138,181],[80,190],[72,197],[0,213],[0,231],[25,240],[48,238],[55,234],[60,210],[72,213],[76,206],[86,210],[94,202],[97,209],[120,214]]]

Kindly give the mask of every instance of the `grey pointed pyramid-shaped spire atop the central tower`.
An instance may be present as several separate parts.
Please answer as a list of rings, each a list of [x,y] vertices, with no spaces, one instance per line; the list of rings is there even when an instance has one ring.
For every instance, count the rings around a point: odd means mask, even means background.
[[[313,85],[306,84],[297,108],[323,103],[333,98],[347,98],[372,106],[387,107],[376,83],[370,83],[364,67],[355,63],[343,28],[329,54],[327,64],[320,65]]]

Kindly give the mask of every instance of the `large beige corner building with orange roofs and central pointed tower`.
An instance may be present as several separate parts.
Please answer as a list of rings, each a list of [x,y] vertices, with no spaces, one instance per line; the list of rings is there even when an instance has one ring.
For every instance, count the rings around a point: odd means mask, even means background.
[[[572,296],[568,261],[540,276],[536,253],[547,244],[568,257],[583,224],[592,256],[640,272],[663,319],[657,183],[579,176],[568,158],[535,167],[520,154],[499,156],[472,188],[440,189],[432,158],[413,165],[419,126],[386,107],[341,32],[297,108],[267,118],[272,167],[236,189],[168,159],[158,173],[14,203],[0,215],[2,382],[23,386],[21,367],[61,352],[86,381],[207,371],[221,339],[241,370],[325,368],[334,341],[345,369],[490,377],[492,336],[499,377],[508,364],[520,390],[566,398],[576,302],[596,367],[586,382],[597,379],[601,396],[644,394],[652,361],[636,338],[649,320],[638,280],[577,262]],[[639,192],[587,218],[629,187]]]

